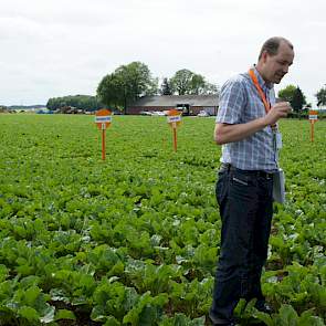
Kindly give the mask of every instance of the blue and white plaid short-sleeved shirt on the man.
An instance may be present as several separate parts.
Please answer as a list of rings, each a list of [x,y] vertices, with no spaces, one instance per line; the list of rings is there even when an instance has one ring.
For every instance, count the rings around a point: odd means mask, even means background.
[[[256,69],[254,73],[266,99],[274,105],[273,85],[267,85]],[[249,73],[240,74],[222,86],[217,123],[245,124],[265,114],[265,106]],[[221,162],[242,170],[275,170],[277,162],[272,128],[267,126],[240,141],[223,145]]]

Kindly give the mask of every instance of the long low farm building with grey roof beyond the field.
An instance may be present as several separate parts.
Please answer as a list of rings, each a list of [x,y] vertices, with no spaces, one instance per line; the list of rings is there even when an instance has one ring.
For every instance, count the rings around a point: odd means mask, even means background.
[[[161,95],[144,96],[127,107],[128,114],[181,109],[183,115],[197,115],[206,111],[215,115],[219,107],[218,95]]]

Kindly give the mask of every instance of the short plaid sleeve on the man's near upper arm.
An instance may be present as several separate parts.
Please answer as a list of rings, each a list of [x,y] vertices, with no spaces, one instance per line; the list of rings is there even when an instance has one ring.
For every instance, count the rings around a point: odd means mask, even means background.
[[[239,124],[245,107],[244,82],[240,77],[228,81],[221,90],[215,123]]]

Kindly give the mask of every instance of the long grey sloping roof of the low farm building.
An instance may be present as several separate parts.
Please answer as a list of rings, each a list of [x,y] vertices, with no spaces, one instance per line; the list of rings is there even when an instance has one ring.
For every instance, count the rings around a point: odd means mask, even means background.
[[[218,95],[161,95],[144,96],[130,106],[177,106],[188,104],[190,106],[218,106]]]

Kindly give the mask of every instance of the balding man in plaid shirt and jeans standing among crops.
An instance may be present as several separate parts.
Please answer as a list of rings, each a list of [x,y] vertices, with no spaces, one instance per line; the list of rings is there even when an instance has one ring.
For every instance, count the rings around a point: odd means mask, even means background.
[[[222,146],[217,200],[222,219],[221,252],[210,318],[213,325],[235,325],[232,315],[241,297],[256,298],[271,313],[261,290],[262,267],[273,213],[273,173],[277,170],[281,134],[277,120],[291,111],[275,104],[274,83],[288,72],[293,45],[269,39],[259,62],[229,80],[221,90],[214,139]]]

